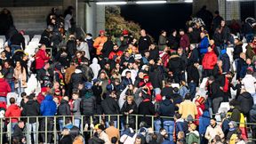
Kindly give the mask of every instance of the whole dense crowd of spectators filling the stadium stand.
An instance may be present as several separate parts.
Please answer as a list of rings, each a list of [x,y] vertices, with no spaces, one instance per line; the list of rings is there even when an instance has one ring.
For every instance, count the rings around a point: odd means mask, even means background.
[[[1,132],[11,132],[3,143],[255,143],[255,21],[228,26],[216,11],[210,23],[202,17],[169,36],[163,30],[156,44],[144,29],[138,39],[125,29],[119,37],[105,30],[77,37],[73,11],[52,8],[33,57],[24,52],[24,31],[6,39]],[[39,93],[26,91],[35,84]]]

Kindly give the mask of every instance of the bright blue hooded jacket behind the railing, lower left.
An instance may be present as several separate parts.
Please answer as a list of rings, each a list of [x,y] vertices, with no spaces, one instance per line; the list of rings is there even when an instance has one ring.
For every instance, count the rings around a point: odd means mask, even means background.
[[[40,111],[42,116],[54,116],[57,112],[56,103],[53,101],[52,95],[46,95],[41,103]]]

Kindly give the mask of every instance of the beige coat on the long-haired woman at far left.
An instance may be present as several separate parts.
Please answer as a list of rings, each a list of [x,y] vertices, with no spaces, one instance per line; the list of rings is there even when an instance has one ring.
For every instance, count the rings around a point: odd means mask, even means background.
[[[19,87],[19,81],[21,84],[21,87],[25,88],[27,87],[27,74],[26,69],[23,68],[23,73],[21,73],[21,69],[14,68],[14,78],[15,78],[15,88]]]

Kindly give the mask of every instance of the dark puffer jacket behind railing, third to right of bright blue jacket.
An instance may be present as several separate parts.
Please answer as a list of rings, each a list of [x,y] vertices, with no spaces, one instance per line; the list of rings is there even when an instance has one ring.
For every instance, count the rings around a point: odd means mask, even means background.
[[[85,92],[80,107],[82,109],[82,114],[85,116],[92,116],[96,113],[96,98],[92,91],[89,90]]]

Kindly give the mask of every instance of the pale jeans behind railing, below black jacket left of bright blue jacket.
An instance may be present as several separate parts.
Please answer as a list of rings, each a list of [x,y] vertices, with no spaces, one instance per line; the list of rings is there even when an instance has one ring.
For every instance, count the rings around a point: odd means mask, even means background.
[[[33,141],[32,141],[32,138],[31,138],[31,133],[33,135],[33,140],[34,140],[34,143],[37,143],[38,142],[38,138],[37,138],[37,135],[38,133],[36,133],[38,131],[38,124],[36,123],[32,123],[32,124],[27,124],[27,131],[28,131],[28,137],[27,137],[27,140],[28,140],[28,144],[33,144]],[[30,133],[31,132],[31,133]]]

